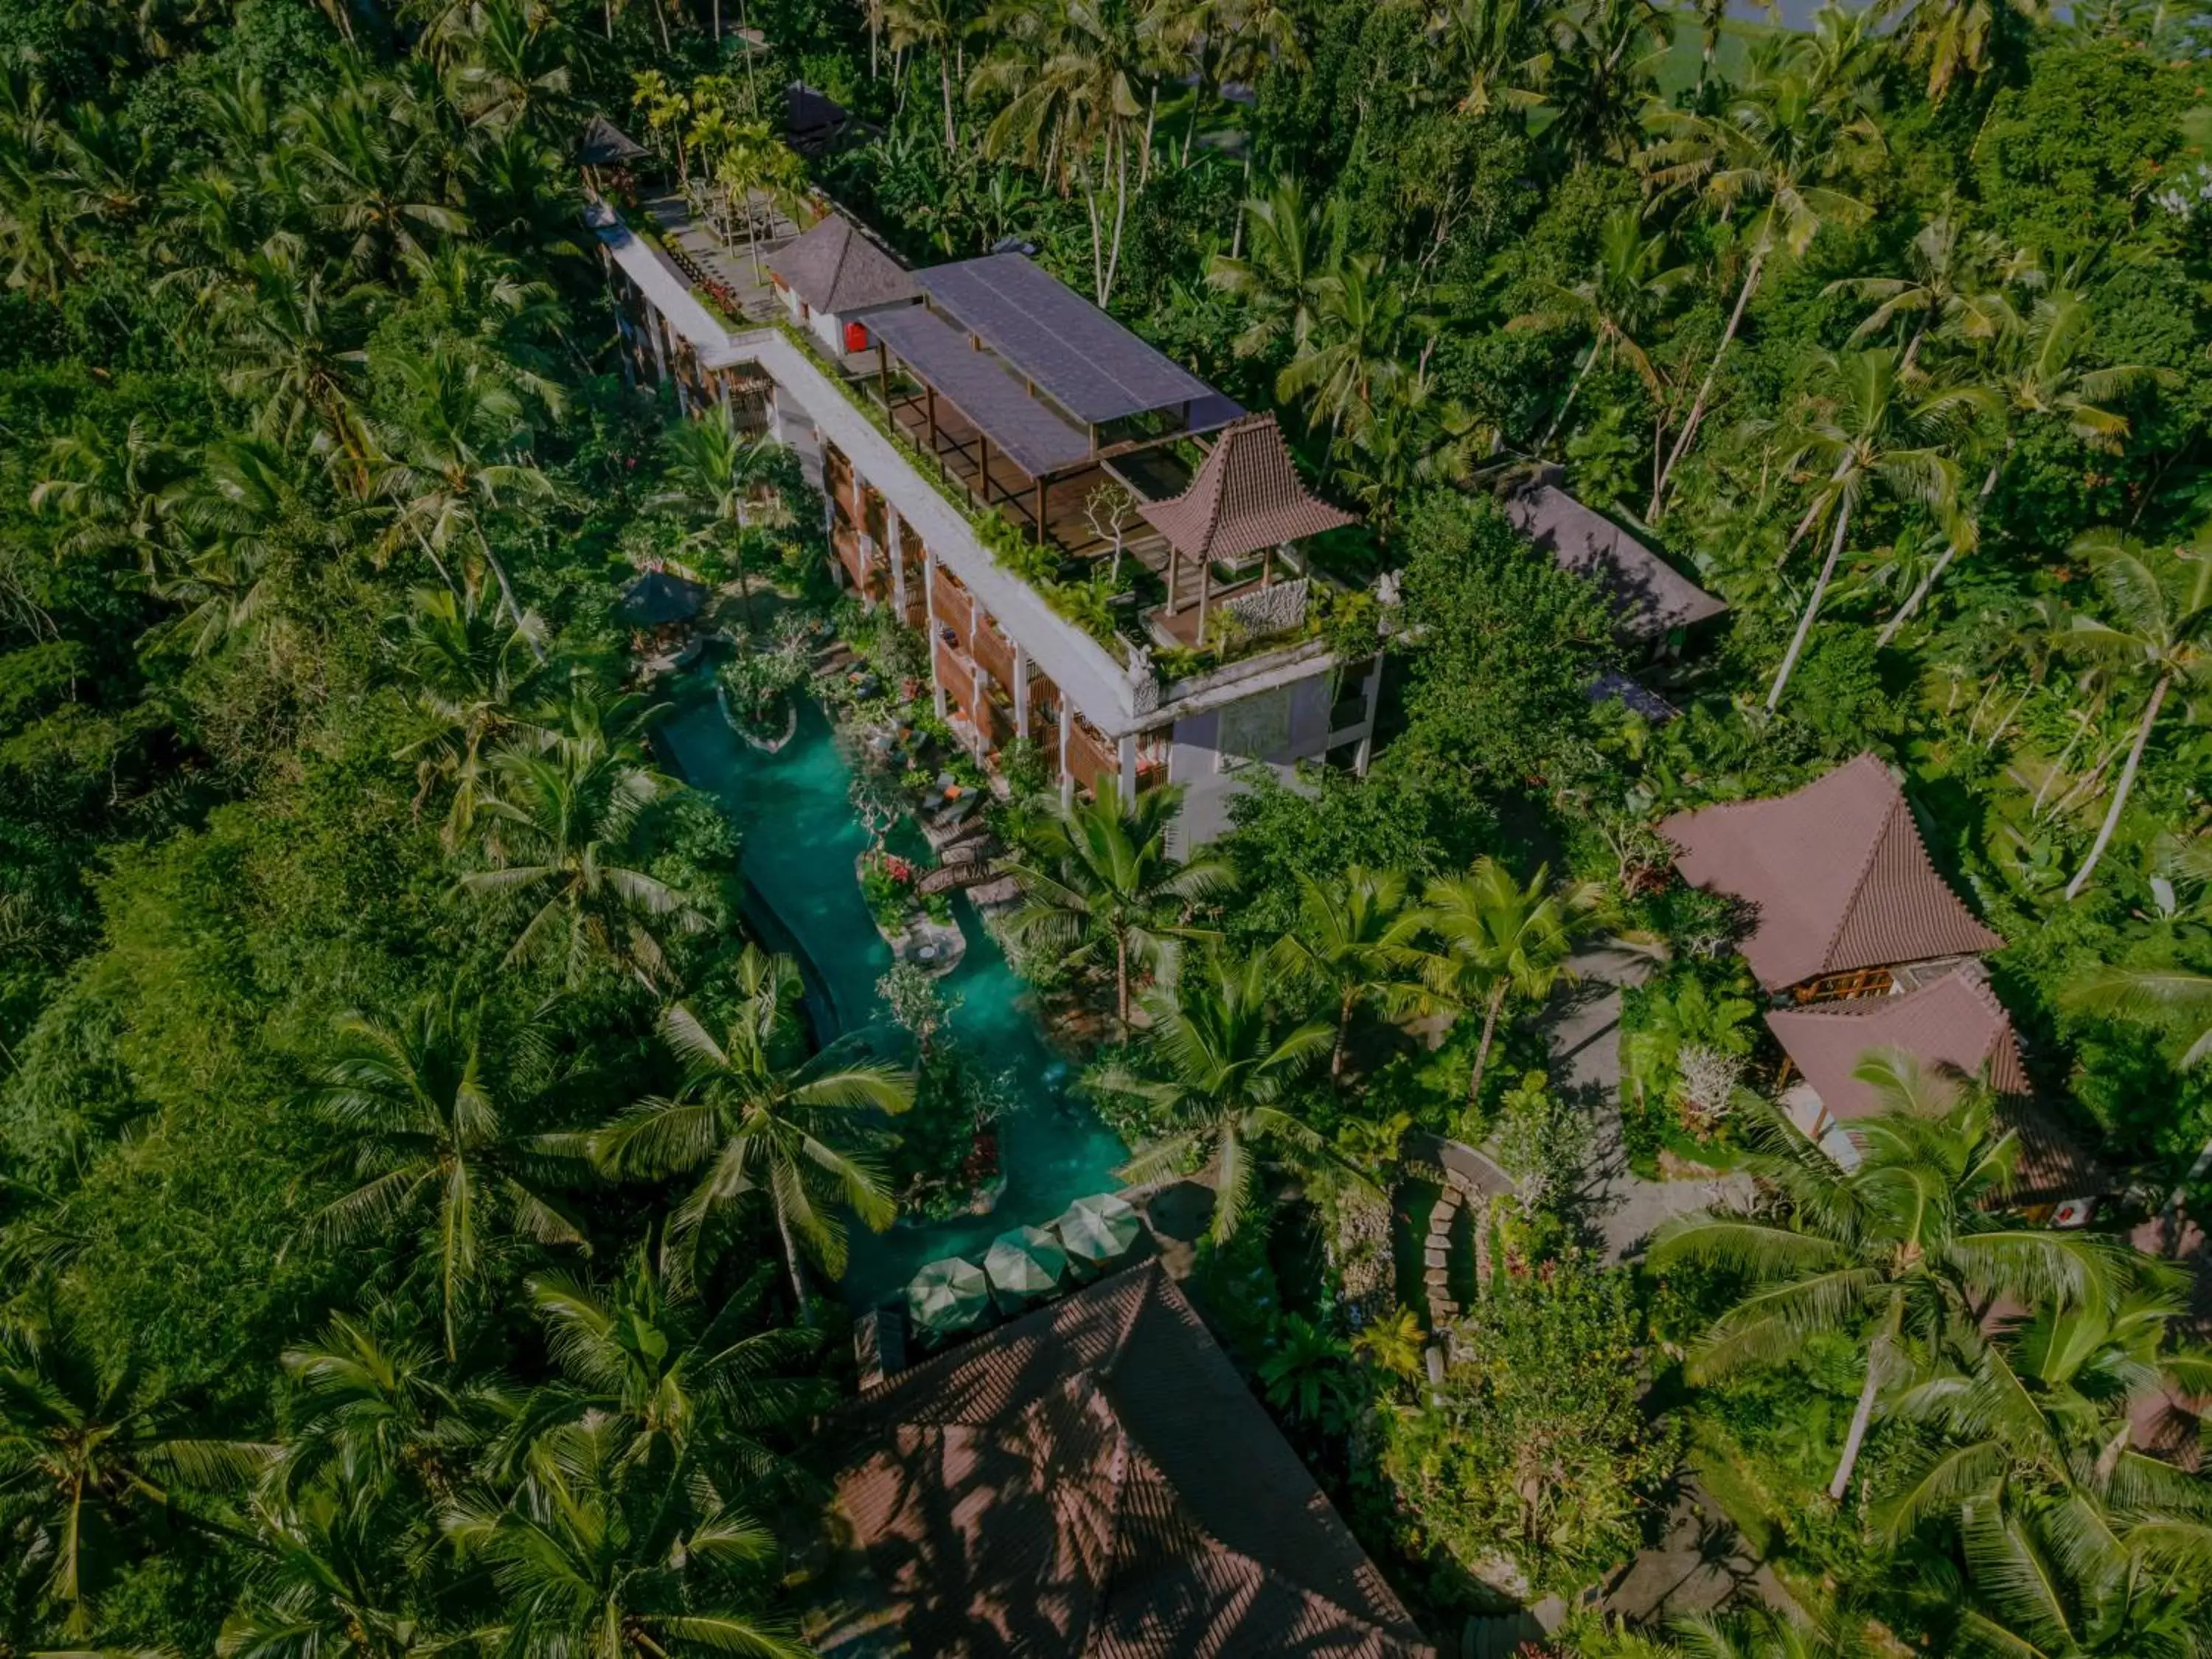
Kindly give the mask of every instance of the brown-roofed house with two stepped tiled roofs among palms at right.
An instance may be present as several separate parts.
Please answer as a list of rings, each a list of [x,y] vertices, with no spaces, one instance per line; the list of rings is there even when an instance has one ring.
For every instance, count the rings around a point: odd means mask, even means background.
[[[2108,1186],[2035,1106],[2011,1013],[1980,956],[2004,947],[1936,874],[1911,805],[1878,759],[1772,801],[1732,801],[1659,825],[1683,878],[1756,909],[1741,951],[1774,995],[1767,1029],[1790,1064],[1783,1110],[1843,1166],[1845,1128],[1882,1110],[1858,1079],[1869,1053],[1984,1079],[2020,1139],[2008,1201],[2081,1225]]]

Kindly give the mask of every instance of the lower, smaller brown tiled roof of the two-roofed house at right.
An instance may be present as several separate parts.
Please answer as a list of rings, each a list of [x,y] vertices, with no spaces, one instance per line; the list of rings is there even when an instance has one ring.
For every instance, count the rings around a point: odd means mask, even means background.
[[[1767,1026],[1834,1117],[1882,1110],[1880,1095],[1851,1075],[1869,1048],[1902,1048],[1922,1066],[1955,1068],[1969,1077],[1980,1077],[1986,1066],[2000,1095],[2028,1093],[2013,1020],[1978,962],[1964,962],[1905,995],[1772,1009]]]

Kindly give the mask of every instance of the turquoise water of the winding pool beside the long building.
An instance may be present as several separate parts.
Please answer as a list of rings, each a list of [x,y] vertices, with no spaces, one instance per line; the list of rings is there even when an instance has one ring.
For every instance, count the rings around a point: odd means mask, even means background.
[[[854,818],[852,768],[830,721],[814,703],[799,712],[799,732],[779,754],[741,741],[712,697],[695,697],[659,732],[670,765],[706,790],[743,834],[745,918],[761,942],[799,960],[807,1013],[823,1042],[874,1031],[898,1042],[876,980],[891,967],[891,947],[860,902],[854,860],[867,830]],[[1006,1190],[991,1214],[896,1223],[872,1234],[852,1228],[852,1259],[841,1285],[854,1307],[894,1296],[927,1261],[980,1261],[1006,1228],[1044,1225],[1086,1192],[1110,1192],[1128,1148],[1071,1093],[1075,1073],[1044,1040],[1035,998],[975,920],[964,896],[953,916],[967,953],[940,987],[958,998],[953,1033],[993,1073],[1011,1073],[1018,1106],[1000,1121]]]

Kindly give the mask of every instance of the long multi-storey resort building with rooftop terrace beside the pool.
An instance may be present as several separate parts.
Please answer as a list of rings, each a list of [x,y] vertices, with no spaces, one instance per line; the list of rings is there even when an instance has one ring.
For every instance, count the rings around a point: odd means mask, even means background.
[[[902,272],[832,215],[734,314],[743,261],[710,274],[688,208],[648,212],[650,241],[588,215],[630,367],[799,449],[843,580],[927,630],[929,695],[978,761],[1031,743],[1064,799],[1183,785],[1177,852],[1259,770],[1367,768],[1380,613],[1314,564],[1352,518],[1272,418],[1022,254]]]

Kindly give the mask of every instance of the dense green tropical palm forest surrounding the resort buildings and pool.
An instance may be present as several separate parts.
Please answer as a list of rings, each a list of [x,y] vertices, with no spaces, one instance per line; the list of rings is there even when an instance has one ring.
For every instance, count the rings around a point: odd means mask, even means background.
[[[814,1053],[655,757],[646,562],[898,644],[787,456],[624,378],[591,113],[914,261],[1035,243],[1402,577],[1369,776],[1181,865],[1166,796],[993,810],[1009,947],[1133,1177],[1221,1188],[1201,1305],[1425,1624],[1694,1475],[1794,1610],[1562,1652],[2212,1650],[2212,1484],[2128,1440],[2212,1360],[2124,1245],[2212,1214],[2208,53],[2143,0],[0,0],[0,1655],[803,1650],[847,1230],[1006,1102],[914,982],[911,1053]],[[801,164],[792,80],[867,126]],[[1484,495],[1526,460],[1730,615],[1621,661]],[[1860,750],[2126,1172],[2088,1232],[2006,1217],[1971,1084],[1880,1075],[1854,1172],[1765,1099],[1655,825]],[[1765,1194],[1635,1265],[1540,1024],[1599,938],[1657,964],[1626,1157]],[[1433,1385],[1409,1130],[1520,1181]]]

